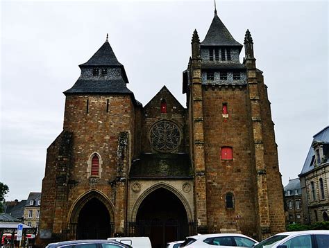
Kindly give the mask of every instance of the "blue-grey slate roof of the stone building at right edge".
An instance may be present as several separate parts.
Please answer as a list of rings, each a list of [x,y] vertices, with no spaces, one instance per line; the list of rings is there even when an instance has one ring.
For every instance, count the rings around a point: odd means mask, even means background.
[[[314,141],[323,142],[324,144],[329,144],[329,126],[323,128],[323,130],[321,130],[317,134],[314,134],[312,143]],[[301,171],[301,174],[298,175],[299,177],[314,169],[314,163],[313,163],[314,156],[315,156],[314,149],[312,148],[312,144],[311,144],[311,147],[310,147],[310,150],[308,150],[307,157],[305,159],[305,163],[304,163],[303,169]],[[329,161],[329,157],[327,157],[327,162],[328,161]]]

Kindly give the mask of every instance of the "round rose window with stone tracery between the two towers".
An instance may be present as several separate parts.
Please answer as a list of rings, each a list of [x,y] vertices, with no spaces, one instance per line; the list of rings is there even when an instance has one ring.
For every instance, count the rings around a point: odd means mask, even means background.
[[[175,123],[160,121],[151,127],[151,145],[159,152],[170,152],[178,148],[180,143],[180,131]]]

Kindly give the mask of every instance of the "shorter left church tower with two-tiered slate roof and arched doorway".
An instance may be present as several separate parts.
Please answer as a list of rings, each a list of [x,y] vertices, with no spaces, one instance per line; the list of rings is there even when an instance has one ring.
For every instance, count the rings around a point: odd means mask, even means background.
[[[47,150],[40,238],[108,238],[124,233],[127,171],[140,109],[106,42],[64,92],[62,133]],[[96,231],[95,231],[96,230]],[[100,231],[101,230],[101,231]]]

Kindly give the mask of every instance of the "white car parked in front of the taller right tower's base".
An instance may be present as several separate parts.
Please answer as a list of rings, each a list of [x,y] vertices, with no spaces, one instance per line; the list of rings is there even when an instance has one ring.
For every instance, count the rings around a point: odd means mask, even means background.
[[[189,248],[210,248],[214,246],[225,247],[253,247],[258,241],[248,236],[238,233],[217,233],[217,234],[201,234],[187,237],[180,247]]]

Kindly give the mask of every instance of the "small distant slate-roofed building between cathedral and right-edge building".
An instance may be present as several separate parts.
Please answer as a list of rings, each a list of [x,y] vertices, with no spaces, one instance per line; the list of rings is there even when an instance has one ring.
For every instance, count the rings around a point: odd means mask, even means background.
[[[301,182],[299,178],[289,180],[285,191],[285,217],[287,224],[303,223]]]

